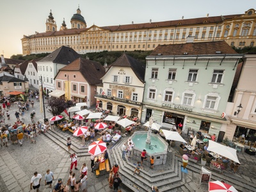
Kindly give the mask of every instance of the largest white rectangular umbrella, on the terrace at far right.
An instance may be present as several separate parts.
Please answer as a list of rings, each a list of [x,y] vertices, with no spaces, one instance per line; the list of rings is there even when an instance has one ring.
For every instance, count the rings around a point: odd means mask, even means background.
[[[209,146],[207,150],[219,154],[220,156],[227,157],[228,159],[239,163],[239,160],[236,155],[236,149],[221,145],[215,141],[209,140]]]

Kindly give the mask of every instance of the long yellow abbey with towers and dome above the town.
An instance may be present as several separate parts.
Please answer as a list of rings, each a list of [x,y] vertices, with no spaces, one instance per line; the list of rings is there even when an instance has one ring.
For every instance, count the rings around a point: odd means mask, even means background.
[[[169,20],[118,26],[90,26],[87,28],[81,10],[78,8],[70,20],[68,29],[65,20],[57,25],[52,13],[46,22],[44,33],[24,35],[22,53],[38,54],[52,52],[62,45],[72,47],[79,54],[100,51],[153,50],[159,44],[184,44],[188,36],[194,42],[225,40],[234,47],[248,47],[256,44],[256,12],[252,8],[243,14],[221,15],[195,19]],[[49,27],[48,27],[49,26]]]

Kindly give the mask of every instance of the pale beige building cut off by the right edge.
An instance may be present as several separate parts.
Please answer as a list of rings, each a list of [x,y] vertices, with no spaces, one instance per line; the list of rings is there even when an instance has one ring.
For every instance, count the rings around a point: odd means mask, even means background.
[[[243,60],[234,102],[229,108],[230,124],[225,130],[229,140],[242,134],[248,139],[256,133],[256,54],[245,54]],[[242,108],[238,108],[240,104]]]

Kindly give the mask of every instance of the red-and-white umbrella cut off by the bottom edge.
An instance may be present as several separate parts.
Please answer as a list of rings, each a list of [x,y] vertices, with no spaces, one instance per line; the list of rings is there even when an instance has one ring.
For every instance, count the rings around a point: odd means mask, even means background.
[[[216,180],[209,182],[209,192],[237,192],[237,190],[225,182]]]

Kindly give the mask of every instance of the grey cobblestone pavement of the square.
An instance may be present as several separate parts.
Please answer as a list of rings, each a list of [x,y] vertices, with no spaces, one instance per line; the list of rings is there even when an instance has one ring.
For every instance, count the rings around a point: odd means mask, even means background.
[[[43,120],[44,113],[40,113],[39,103],[35,102],[35,106],[29,111],[26,111],[24,122],[25,124],[31,123],[30,112],[35,109],[36,121]],[[6,120],[5,123],[13,124],[15,121],[15,111],[19,110],[18,107],[12,106],[10,108],[11,120]],[[6,117],[6,116],[5,116]],[[49,113],[46,113],[46,118],[51,118]],[[36,143],[30,143],[28,140],[24,140],[24,145],[12,145],[8,142],[8,147],[0,148],[0,191],[24,191],[28,192],[30,179],[34,172],[42,174],[40,191],[51,191],[51,189],[44,186],[44,175],[47,169],[50,169],[54,173],[54,184],[56,180],[61,178],[66,183],[68,179],[68,170],[70,167],[69,154],[66,150],[57,145],[54,141],[50,140],[47,136],[39,135],[35,138]],[[175,149],[177,150],[177,149]],[[249,156],[245,153],[238,154],[241,166],[236,174],[233,174],[229,169],[225,173],[232,175],[232,177],[239,177],[245,179],[251,183],[256,183],[256,157]],[[98,178],[90,172],[90,157],[78,157],[78,165],[85,162],[88,164],[88,192],[92,191],[111,191],[108,187],[108,174],[102,175]],[[79,170],[74,171],[78,178]],[[195,191],[207,191],[207,185],[199,185],[200,174],[189,170],[188,174],[185,174],[186,183],[190,188]],[[220,179],[225,180],[225,175],[220,174]],[[128,189],[122,188],[122,191],[128,191]],[[255,189],[256,191],[256,189]],[[177,191],[179,192],[179,191]]]

